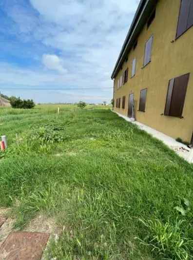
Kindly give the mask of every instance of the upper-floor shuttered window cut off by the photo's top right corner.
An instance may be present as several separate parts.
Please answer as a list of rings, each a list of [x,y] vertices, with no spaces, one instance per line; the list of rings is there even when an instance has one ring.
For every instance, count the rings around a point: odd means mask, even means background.
[[[181,0],[176,38],[193,26],[193,0]]]

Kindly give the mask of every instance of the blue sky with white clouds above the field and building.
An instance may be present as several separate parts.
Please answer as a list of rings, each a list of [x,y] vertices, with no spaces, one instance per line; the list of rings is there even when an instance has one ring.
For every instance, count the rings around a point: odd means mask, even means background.
[[[0,0],[0,91],[36,102],[110,101],[138,3]]]

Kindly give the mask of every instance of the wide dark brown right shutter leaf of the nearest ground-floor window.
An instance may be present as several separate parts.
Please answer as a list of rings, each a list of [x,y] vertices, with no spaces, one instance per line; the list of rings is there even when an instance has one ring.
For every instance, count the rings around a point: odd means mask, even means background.
[[[186,74],[175,78],[170,106],[170,116],[182,116],[189,76],[190,74]]]

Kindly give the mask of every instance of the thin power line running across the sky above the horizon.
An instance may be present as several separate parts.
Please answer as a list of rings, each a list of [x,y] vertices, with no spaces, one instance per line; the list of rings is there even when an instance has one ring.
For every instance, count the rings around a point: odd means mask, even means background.
[[[113,87],[80,87],[80,88],[62,88],[62,87],[57,87],[57,88],[44,88],[44,87],[0,87],[0,89],[3,90],[99,90],[99,89],[113,89]]]

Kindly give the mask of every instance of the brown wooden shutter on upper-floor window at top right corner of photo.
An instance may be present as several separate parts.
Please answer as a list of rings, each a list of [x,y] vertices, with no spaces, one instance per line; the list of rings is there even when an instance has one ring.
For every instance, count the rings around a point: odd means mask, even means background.
[[[192,7],[191,1],[192,0],[181,0],[176,38],[182,35],[188,28],[188,19],[190,17],[189,12],[191,11],[191,7]],[[191,22],[191,18],[190,18],[190,22]]]

